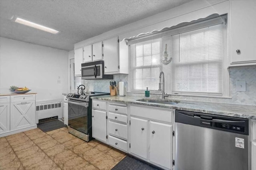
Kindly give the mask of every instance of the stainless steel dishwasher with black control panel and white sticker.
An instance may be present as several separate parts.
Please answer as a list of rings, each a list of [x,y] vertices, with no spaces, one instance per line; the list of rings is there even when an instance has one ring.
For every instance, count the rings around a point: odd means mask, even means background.
[[[176,170],[248,170],[248,119],[175,111]]]

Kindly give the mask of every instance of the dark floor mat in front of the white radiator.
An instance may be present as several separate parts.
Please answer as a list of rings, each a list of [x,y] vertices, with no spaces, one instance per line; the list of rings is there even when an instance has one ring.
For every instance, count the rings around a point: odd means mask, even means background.
[[[37,127],[44,132],[53,131],[55,129],[59,129],[66,126],[67,125],[64,125],[64,123],[62,121],[59,121],[58,119],[37,124]]]

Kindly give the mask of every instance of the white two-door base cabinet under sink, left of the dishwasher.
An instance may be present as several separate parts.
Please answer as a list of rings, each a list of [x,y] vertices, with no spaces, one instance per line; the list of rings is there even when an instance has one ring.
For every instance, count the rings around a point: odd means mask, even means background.
[[[130,154],[163,169],[172,169],[172,110],[130,107]],[[168,119],[162,119],[161,115]]]

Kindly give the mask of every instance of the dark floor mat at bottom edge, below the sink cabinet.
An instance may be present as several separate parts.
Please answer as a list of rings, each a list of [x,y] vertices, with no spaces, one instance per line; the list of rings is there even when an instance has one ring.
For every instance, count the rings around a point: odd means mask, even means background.
[[[162,170],[130,155],[123,158],[112,170]]]

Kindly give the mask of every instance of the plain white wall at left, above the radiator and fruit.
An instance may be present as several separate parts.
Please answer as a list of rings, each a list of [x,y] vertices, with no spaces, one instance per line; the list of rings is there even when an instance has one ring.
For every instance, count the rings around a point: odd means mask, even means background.
[[[37,102],[63,99],[68,91],[68,51],[0,37],[0,93],[28,87]],[[59,80],[59,83],[58,83]]]

